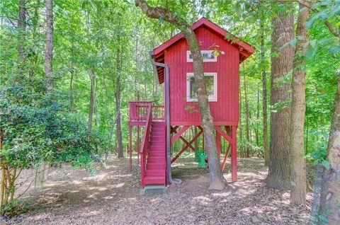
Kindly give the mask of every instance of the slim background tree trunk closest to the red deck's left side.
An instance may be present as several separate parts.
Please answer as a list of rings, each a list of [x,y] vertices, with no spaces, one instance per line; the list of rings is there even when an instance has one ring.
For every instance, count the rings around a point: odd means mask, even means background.
[[[123,137],[120,114],[120,76],[122,74],[122,49],[117,49],[117,79],[115,83],[115,115],[117,124],[118,158],[124,158]]]

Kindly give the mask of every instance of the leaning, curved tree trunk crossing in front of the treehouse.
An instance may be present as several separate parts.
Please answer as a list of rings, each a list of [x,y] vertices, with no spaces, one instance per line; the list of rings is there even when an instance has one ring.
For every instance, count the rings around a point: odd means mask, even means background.
[[[217,144],[215,139],[215,128],[212,124],[212,116],[210,113],[210,106],[208,103],[208,94],[205,90],[204,71],[203,71],[203,57],[200,53],[200,46],[196,34],[191,29],[191,26],[182,18],[161,7],[150,7],[144,0],[135,0],[136,6],[142,8],[142,11],[147,14],[149,18],[164,18],[165,21],[176,25],[179,30],[186,37],[189,50],[193,54],[193,75],[197,86],[198,107],[200,109],[200,116],[202,118],[202,127],[205,137],[205,144],[208,149],[208,161],[210,172],[210,190],[222,190],[225,188],[225,179],[222,175],[220,167],[220,158],[217,153]]]

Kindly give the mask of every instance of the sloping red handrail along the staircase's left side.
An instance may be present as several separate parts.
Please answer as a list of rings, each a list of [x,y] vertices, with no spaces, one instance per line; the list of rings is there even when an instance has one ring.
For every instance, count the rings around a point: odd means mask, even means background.
[[[147,154],[149,152],[149,134],[151,130],[151,123],[152,123],[152,103],[149,103],[147,109],[147,122],[145,122],[145,132],[142,139],[142,146],[140,149],[140,175],[141,175],[141,183],[142,187],[145,187],[144,178],[147,166]]]

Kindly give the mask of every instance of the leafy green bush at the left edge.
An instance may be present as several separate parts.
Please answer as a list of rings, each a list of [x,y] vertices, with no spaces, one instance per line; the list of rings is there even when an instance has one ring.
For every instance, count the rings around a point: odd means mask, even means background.
[[[8,82],[9,83],[9,82]],[[0,89],[1,212],[14,200],[15,181],[23,168],[62,162],[89,168],[100,137],[69,112],[64,93],[45,94],[37,86],[14,82]],[[103,142],[105,143],[105,142]]]

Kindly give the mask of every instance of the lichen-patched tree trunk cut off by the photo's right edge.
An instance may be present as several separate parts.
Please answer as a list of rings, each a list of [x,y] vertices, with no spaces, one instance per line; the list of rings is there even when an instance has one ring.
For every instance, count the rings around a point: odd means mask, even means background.
[[[340,33],[339,33],[340,40]],[[340,68],[338,70],[338,88],[334,103],[329,132],[328,156],[329,170],[322,173],[319,215],[327,218],[328,224],[340,224]],[[320,224],[322,224],[320,222]]]

